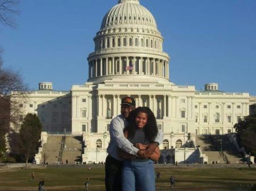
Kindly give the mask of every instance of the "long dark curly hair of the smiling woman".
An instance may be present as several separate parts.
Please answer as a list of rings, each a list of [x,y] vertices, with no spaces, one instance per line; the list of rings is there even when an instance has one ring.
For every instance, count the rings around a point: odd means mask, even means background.
[[[147,124],[143,128],[146,140],[150,143],[154,142],[155,137],[158,134],[158,126],[156,125],[154,113],[148,107],[138,107],[131,113],[129,117],[130,124],[125,129],[125,131],[128,131],[128,138],[134,137],[135,130],[138,128],[135,124],[135,120],[140,112],[147,114]]]

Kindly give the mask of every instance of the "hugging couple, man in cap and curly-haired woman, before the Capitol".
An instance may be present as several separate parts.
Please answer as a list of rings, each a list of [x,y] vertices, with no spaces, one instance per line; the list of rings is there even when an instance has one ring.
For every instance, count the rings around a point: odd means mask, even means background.
[[[159,158],[163,132],[150,108],[135,106],[133,97],[124,97],[121,114],[110,123],[106,191],[155,191],[154,160]]]

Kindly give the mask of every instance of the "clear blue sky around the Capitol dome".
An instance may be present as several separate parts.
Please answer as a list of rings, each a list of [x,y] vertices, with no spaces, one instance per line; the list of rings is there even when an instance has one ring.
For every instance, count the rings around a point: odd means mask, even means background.
[[[216,82],[225,92],[256,95],[255,0],[141,0],[155,16],[178,85]],[[117,0],[22,0],[17,29],[0,26],[5,66],[31,90],[42,81],[70,90],[88,79],[93,37]]]

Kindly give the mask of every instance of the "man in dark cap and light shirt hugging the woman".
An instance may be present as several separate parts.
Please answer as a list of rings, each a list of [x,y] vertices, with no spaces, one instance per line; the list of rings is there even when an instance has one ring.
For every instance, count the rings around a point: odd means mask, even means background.
[[[155,148],[163,142],[163,131],[158,131],[158,136],[154,143],[151,143],[146,152],[134,147],[123,135],[123,129],[128,125],[129,114],[135,109],[133,97],[124,97],[121,102],[121,114],[110,122],[110,143],[108,146],[108,156],[105,164],[105,186],[106,191],[122,191],[121,172],[123,159],[117,154],[117,148],[123,151],[147,158]]]

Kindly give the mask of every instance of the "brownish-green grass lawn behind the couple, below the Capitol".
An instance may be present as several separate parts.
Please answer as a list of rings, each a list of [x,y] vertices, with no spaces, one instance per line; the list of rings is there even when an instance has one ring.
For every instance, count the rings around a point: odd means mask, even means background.
[[[31,172],[35,171],[35,180]],[[256,168],[156,168],[160,179],[156,190],[171,190],[169,177],[176,177],[174,190],[251,190],[256,184]],[[38,190],[38,179],[44,178],[46,190],[85,190],[84,182],[90,177],[89,190],[105,190],[104,167],[47,167],[0,171],[0,190]]]

